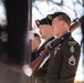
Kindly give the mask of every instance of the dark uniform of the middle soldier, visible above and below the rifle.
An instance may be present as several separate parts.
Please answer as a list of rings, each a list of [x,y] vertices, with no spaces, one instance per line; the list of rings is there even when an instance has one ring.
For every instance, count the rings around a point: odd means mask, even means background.
[[[45,45],[53,39],[54,39],[54,37],[52,37],[51,39],[45,41],[39,50],[36,50],[35,52],[32,53],[32,56],[34,56],[34,58],[32,58],[32,61],[33,61],[33,59],[36,59],[38,56],[40,56],[41,52],[44,51]],[[49,64],[49,60],[45,62],[45,64],[42,68],[38,69],[34,76],[32,76],[32,83],[45,83],[45,74],[48,71],[48,64]]]

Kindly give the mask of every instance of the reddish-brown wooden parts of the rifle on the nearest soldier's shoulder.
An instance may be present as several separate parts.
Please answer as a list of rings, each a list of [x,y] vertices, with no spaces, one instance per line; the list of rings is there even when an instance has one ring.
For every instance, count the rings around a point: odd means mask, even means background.
[[[80,19],[78,21],[74,22],[71,27],[70,27],[70,31],[73,32],[77,27],[80,27],[80,24],[82,23],[82,19]],[[56,42],[56,40],[55,40]],[[32,75],[35,74],[36,70],[39,69],[40,64],[42,63],[43,59],[45,58],[45,55],[49,53],[49,51],[51,50],[50,45],[46,46],[46,49],[43,51],[42,55],[40,55],[39,58],[36,58],[34,61],[32,61],[29,65],[32,69]]]

